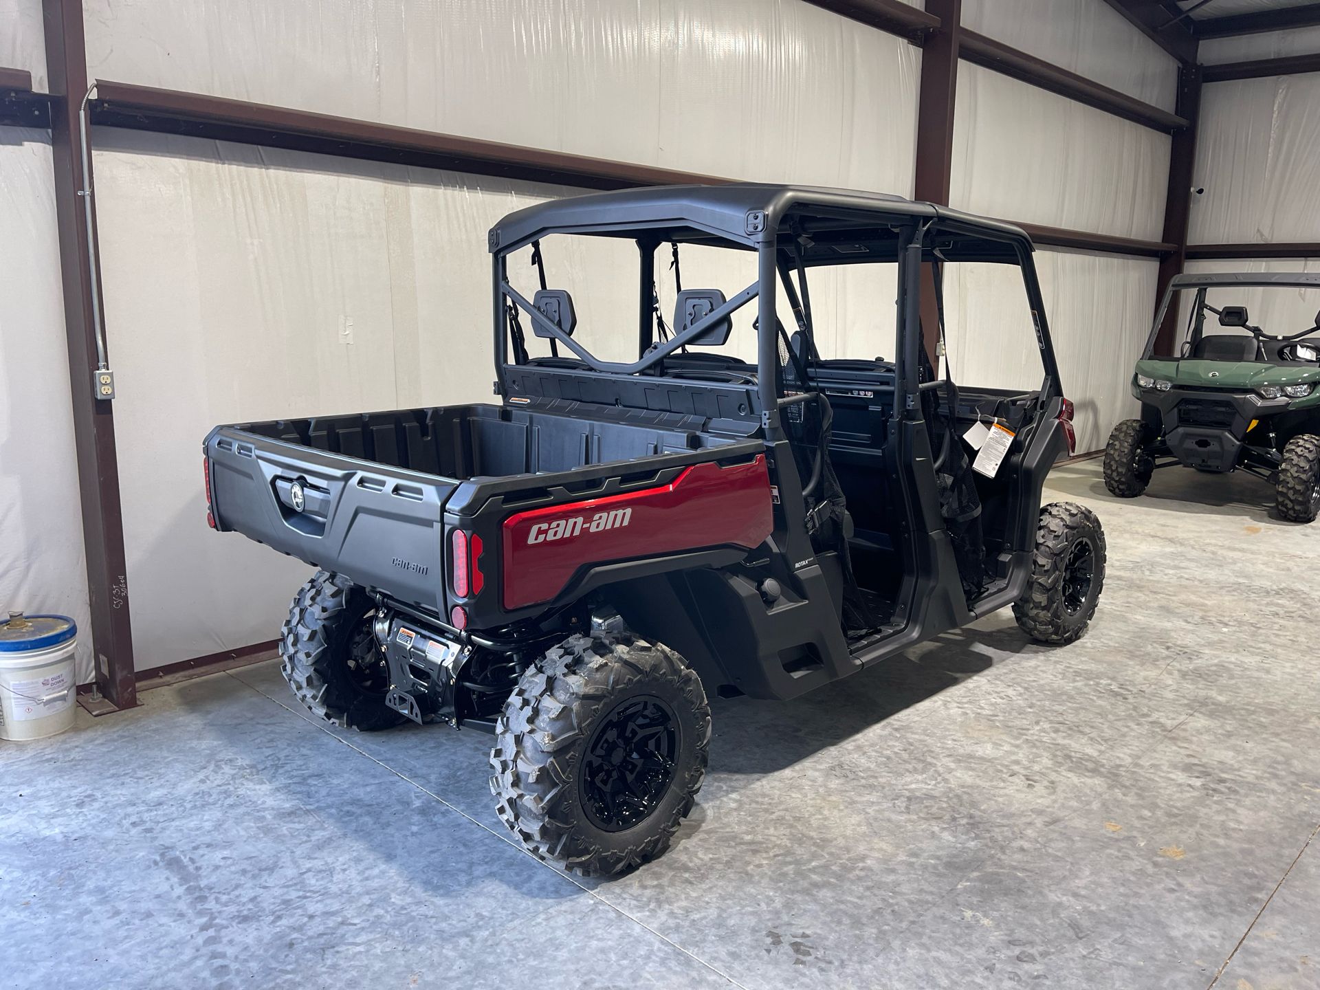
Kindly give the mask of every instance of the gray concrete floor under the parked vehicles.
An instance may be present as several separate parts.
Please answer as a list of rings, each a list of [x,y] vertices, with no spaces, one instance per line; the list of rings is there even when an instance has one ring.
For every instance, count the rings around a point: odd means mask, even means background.
[[[1085,639],[714,701],[681,841],[609,883],[512,845],[487,737],[326,730],[273,663],[0,743],[0,986],[1320,987],[1320,524],[1051,488],[1109,536]]]

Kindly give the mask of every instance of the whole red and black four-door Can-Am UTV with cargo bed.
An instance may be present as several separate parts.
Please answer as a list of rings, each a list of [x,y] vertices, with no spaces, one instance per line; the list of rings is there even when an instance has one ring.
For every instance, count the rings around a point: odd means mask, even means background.
[[[561,235],[593,246],[572,255],[578,300],[546,284]],[[636,265],[616,319],[586,298],[620,298],[620,269],[591,269],[606,248]],[[680,255],[689,282],[711,257],[748,281],[676,284],[668,322],[657,249],[675,282]],[[793,698],[1005,606],[1041,643],[1085,631],[1105,537],[1086,508],[1040,506],[1072,404],[1020,230],[876,194],[684,186],[535,206],[490,251],[498,405],[219,426],[207,510],[319,568],[281,645],[306,706],[492,731],[499,816],[536,855],[609,874],[663,853],[705,775],[708,692]],[[515,256],[539,289],[515,288]],[[1039,389],[932,371],[921,280],[933,342],[960,261],[1020,272]],[[854,308],[878,350],[896,292],[892,360],[821,356],[812,289],[822,312],[837,265],[896,277]],[[719,350],[735,318],[748,359]],[[987,422],[997,454],[973,471],[964,434]]]

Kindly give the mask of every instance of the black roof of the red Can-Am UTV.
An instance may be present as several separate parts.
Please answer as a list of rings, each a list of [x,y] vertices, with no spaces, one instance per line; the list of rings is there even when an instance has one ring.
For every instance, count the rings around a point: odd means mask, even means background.
[[[620,235],[638,227],[696,227],[729,240],[756,244],[774,236],[777,222],[789,213],[846,215],[858,213],[883,219],[892,216],[946,216],[974,230],[1028,240],[1019,227],[946,206],[915,202],[886,193],[817,186],[784,186],[759,182],[729,182],[717,186],[644,186],[612,193],[550,199],[504,216],[491,228],[490,249],[507,251],[552,232]],[[748,214],[760,211],[760,230]]]

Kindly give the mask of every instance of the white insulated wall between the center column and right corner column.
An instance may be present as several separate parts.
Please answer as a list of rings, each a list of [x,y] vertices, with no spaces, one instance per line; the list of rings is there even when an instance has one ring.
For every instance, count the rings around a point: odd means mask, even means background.
[[[1115,20],[1117,18],[1117,20]],[[1177,66],[1102,0],[966,0],[973,30],[1172,108]],[[1160,240],[1171,139],[962,62],[950,202],[1047,227]],[[1159,263],[1039,249],[1045,312],[1077,450],[1098,450],[1137,409],[1133,362],[1152,321]],[[957,380],[1026,388],[1039,376],[1024,296],[990,265],[953,272],[949,350]],[[1030,371],[1028,371],[1030,370]]]

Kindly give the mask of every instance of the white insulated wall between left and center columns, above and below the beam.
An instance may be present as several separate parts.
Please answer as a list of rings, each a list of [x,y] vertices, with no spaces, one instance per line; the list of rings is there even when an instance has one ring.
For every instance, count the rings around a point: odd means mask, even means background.
[[[91,0],[87,36],[91,73],[107,79],[718,176],[912,191],[920,51],[799,0],[503,0],[442,15],[413,0]],[[308,573],[207,531],[206,432],[488,401],[486,231],[581,190],[111,129],[94,144],[145,669],[272,639]],[[546,253],[550,279],[568,282]],[[618,310],[615,288],[602,313]],[[595,304],[582,304],[585,327]]]

